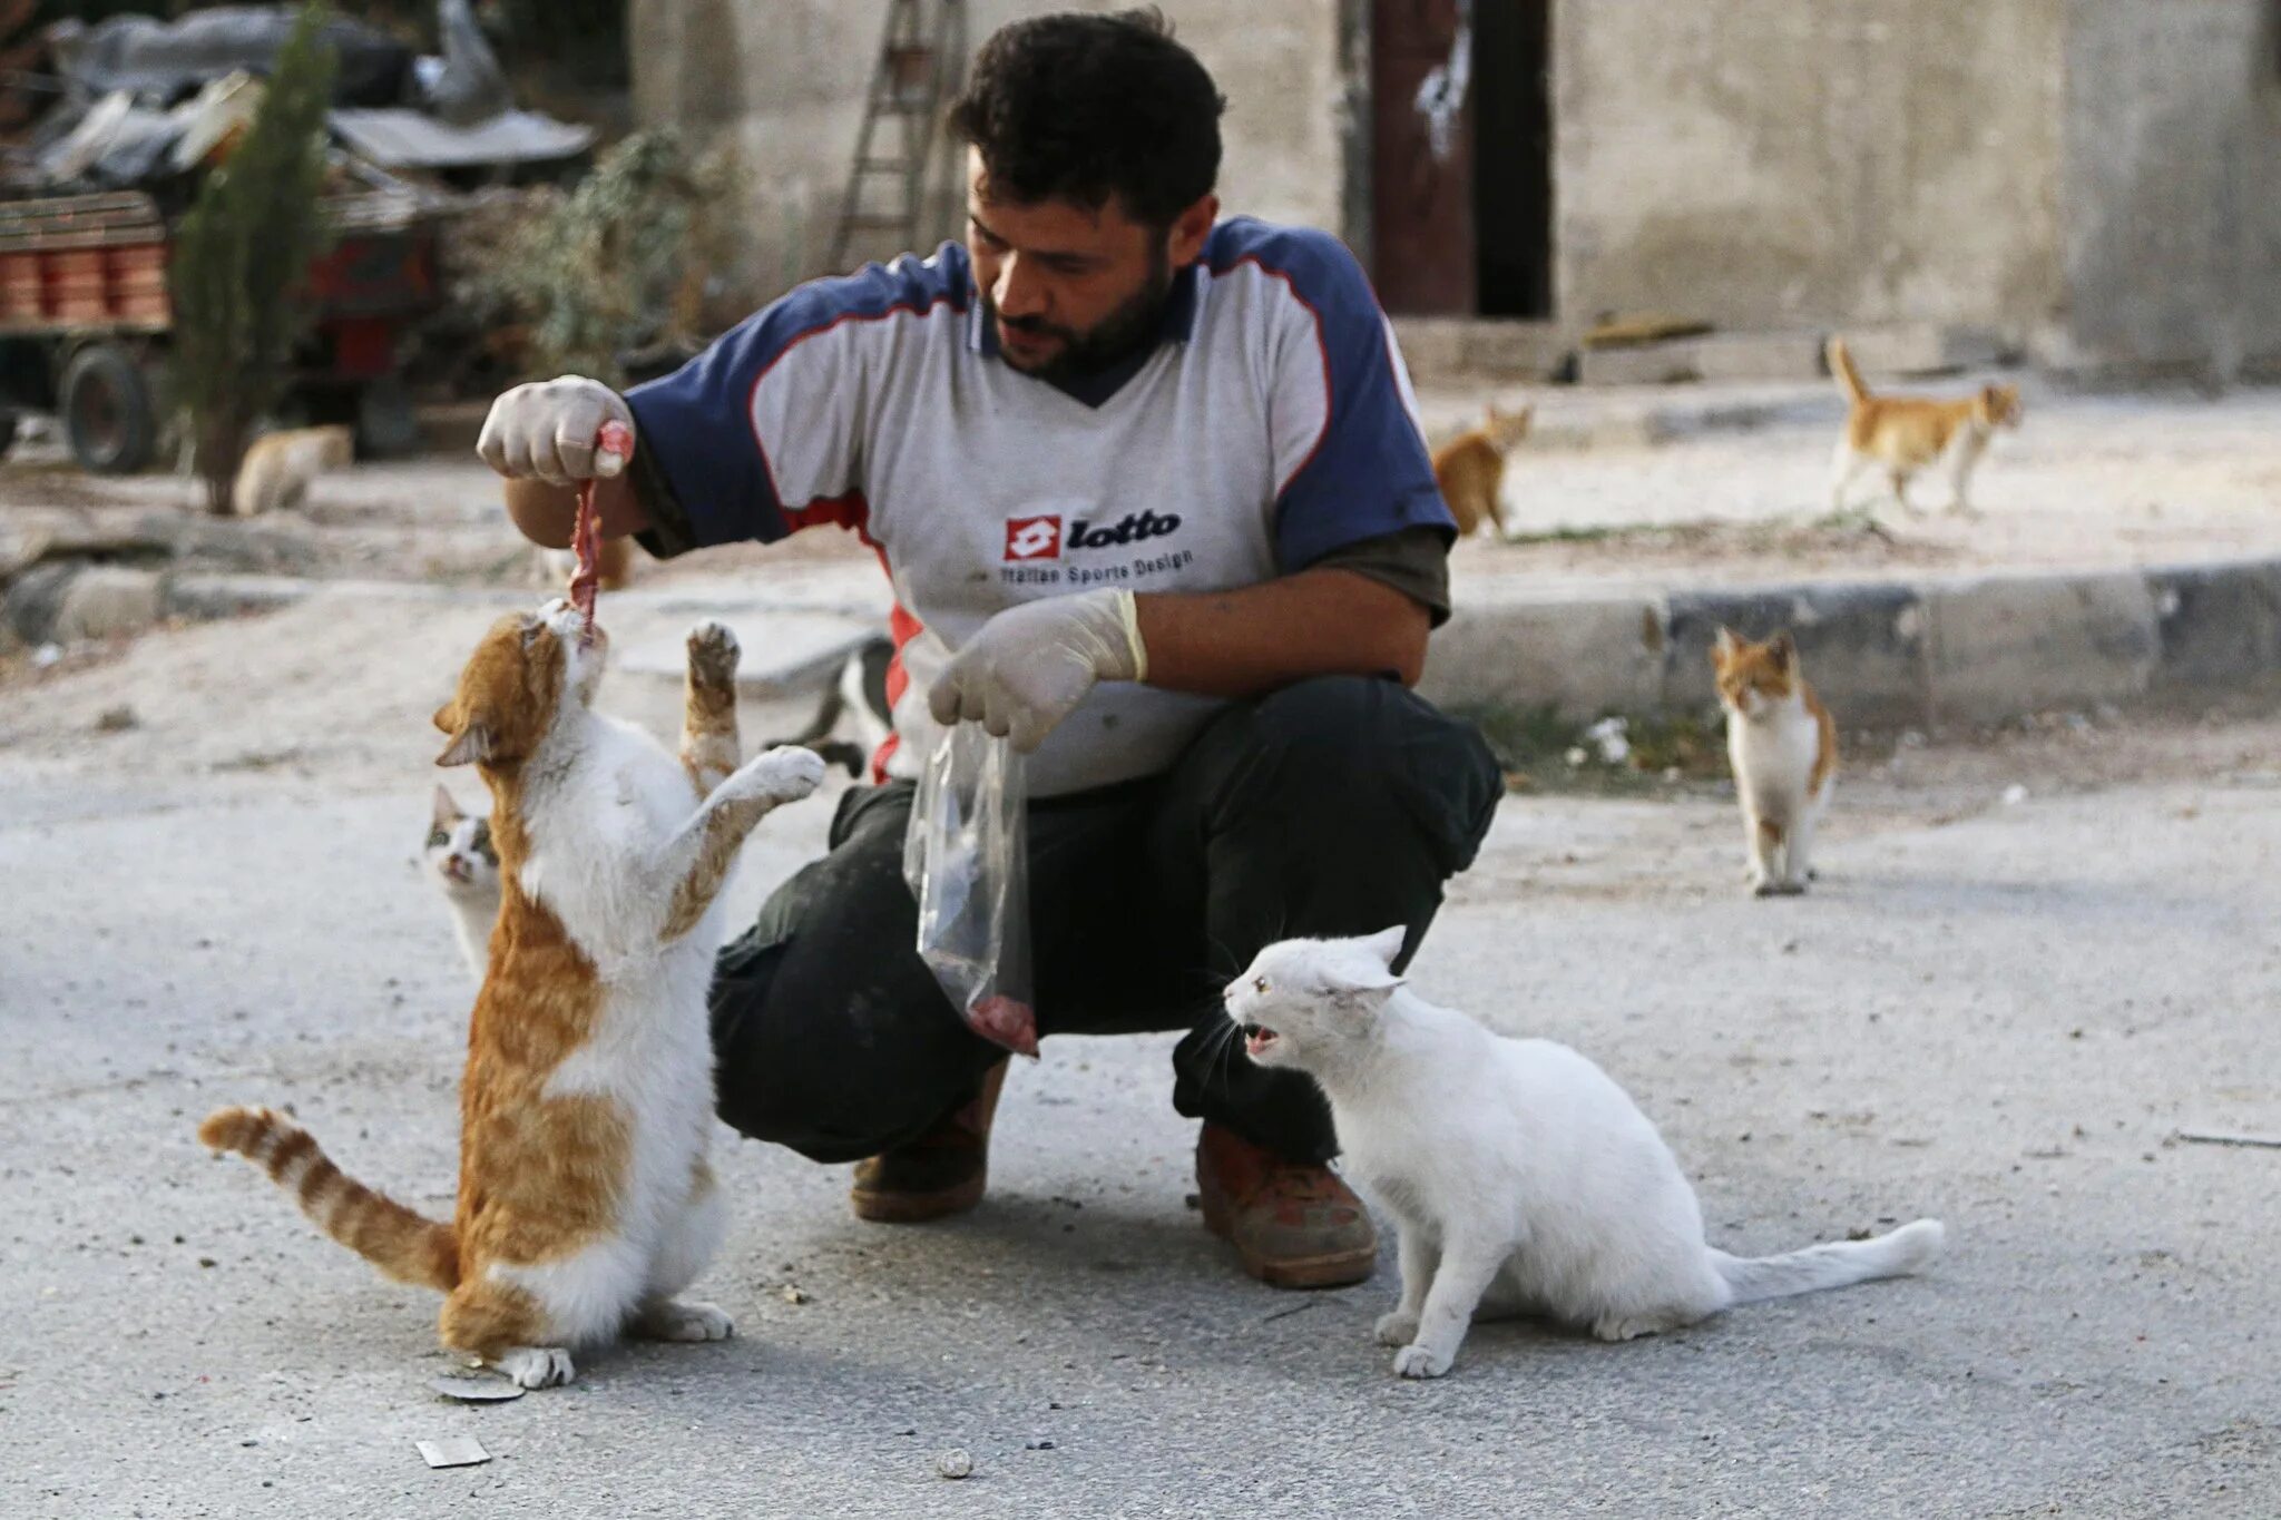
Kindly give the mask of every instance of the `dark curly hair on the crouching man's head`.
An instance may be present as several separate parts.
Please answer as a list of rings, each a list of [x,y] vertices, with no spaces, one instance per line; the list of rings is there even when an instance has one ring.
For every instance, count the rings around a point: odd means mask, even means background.
[[[1211,194],[1227,103],[1161,11],[1058,14],[990,34],[951,107],[992,198],[1111,198],[1152,228]]]

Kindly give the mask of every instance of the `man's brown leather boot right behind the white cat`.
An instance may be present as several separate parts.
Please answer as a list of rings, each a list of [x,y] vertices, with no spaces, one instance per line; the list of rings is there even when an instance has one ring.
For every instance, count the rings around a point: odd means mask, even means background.
[[[1234,1130],[1195,1137],[1204,1228],[1234,1242],[1243,1269],[1268,1288],[1344,1288],[1378,1265],[1378,1231],[1362,1199],[1330,1167],[1286,1162]]]

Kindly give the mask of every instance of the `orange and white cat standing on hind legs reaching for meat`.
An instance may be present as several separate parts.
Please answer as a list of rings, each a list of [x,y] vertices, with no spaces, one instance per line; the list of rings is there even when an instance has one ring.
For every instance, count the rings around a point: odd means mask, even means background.
[[[620,1331],[721,1340],[677,1299],[725,1226],[707,1164],[714,898],[773,807],[823,779],[807,750],[737,766],[728,629],[689,636],[682,757],[593,711],[604,640],[568,602],[502,618],[436,713],[493,798],[500,921],[468,1028],[458,1206],[424,1219],[344,1176],[292,1119],[224,1108],[198,1137],[258,1162],[333,1240],[443,1290],[443,1342],[525,1388]],[[709,793],[709,795],[707,795]]]

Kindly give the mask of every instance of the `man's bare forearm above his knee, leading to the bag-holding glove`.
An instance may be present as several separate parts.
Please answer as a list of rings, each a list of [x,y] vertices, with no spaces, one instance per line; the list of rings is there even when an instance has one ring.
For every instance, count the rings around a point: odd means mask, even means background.
[[[1350,570],[1302,570],[1241,590],[1134,597],[1147,684],[1255,697],[1314,675],[1426,668],[1432,620],[1403,593]]]

